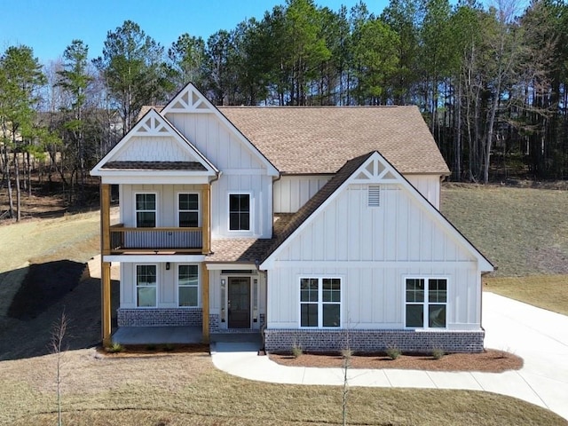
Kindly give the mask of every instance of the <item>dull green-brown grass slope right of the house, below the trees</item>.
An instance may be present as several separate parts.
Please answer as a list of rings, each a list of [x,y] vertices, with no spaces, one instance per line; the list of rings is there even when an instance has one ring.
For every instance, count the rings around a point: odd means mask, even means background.
[[[441,210],[499,269],[568,274],[568,191],[445,185]]]

